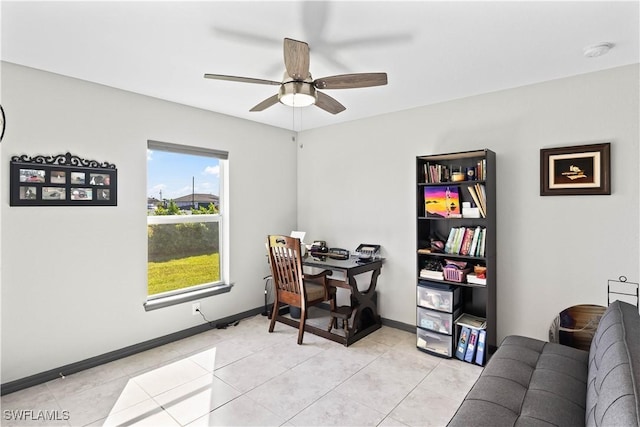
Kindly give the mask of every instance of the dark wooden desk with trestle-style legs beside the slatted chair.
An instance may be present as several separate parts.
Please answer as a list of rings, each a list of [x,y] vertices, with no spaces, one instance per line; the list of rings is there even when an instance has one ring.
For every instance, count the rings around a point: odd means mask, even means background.
[[[351,306],[354,309],[353,322],[351,327],[347,329],[346,336],[328,332],[309,324],[305,326],[305,331],[349,346],[371,332],[380,329],[382,321],[378,315],[376,285],[383,262],[383,258],[364,263],[358,262],[358,259],[353,257],[344,261],[332,258],[321,260],[312,256],[304,258],[302,261],[303,268],[313,267],[331,270],[328,280],[329,285],[348,289],[351,292]],[[371,272],[369,285],[366,290],[361,291],[358,289],[356,276],[368,272]]]

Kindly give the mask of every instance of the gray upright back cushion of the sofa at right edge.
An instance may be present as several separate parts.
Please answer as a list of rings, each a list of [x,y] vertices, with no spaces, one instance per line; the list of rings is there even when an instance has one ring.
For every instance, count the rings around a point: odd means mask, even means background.
[[[640,316],[615,301],[605,311],[589,351],[587,426],[640,425]]]

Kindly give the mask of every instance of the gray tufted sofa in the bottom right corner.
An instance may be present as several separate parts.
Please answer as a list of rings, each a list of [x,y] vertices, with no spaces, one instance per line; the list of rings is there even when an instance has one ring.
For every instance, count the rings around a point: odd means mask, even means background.
[[[615,301],[588,352],[505,338],[449,426],[640,426],[639,387],[640,315]]]

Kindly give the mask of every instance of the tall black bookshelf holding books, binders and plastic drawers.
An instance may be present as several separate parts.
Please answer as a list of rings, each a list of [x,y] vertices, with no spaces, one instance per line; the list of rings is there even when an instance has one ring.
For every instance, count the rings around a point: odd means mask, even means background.
[[[444,201],[438,196],[442,191],[446,194]],[[471,192],[477,197],[474,198]],[[471,210],[464,209],[463,212],[465,202],[470,203]],[[463,215],[478,214],[474,208],[480,211],[479,217]],[[495,153],[482,149],[416,157],[416,221],[417,348],[441,357],[454,357],[461,327],[455,324],[453,317],[466,313],[486,319],[485,353],[488,358],[497,345]],[[484,230],[481,232],[483,251],[479,251],[478,242],[473,246],[473,240],[466,249],[462,241],[460,246],[447,246],[451,230],[461,227],[473,229],[470,236]],[[461,239],[464,240],[464,234]],[[442,251],[438,241],[442,242]],[[465,253],[472,248],[473,253]],[[433,268],[435,263],[444,266],[447,262],[466,263],[469,271],[466,275],[459,273],[456,280],[421,276],[426,266]],[[468,281],[475,266],[486,267],[484,283]],[[453,301],[454,293],[459,295],[457,301]],[[444,309],[432,304],[433,298],[438,300],[449,295],[452,304],[445,305]],[[449,321],[454,323],[450,328],[446,327]],[[431,345],[429,340],[435,344]]]

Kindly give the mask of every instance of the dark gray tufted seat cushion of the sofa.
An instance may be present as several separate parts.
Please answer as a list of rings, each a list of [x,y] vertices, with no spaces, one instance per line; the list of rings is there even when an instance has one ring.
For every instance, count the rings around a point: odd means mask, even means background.
[[[449,426],[583,425],[588,353],[509,336]]]

